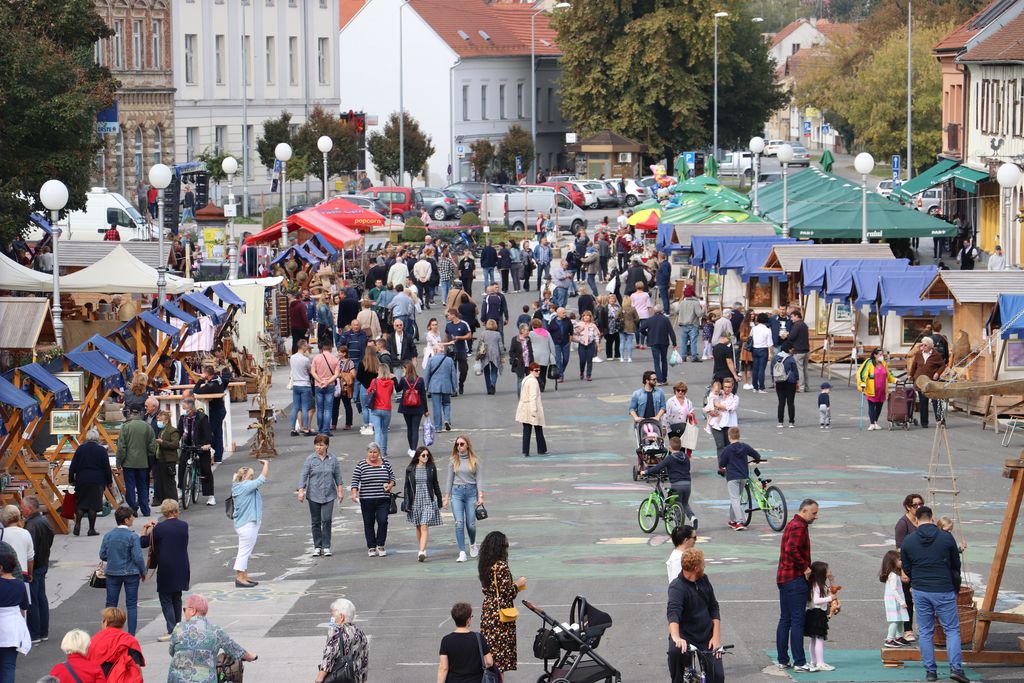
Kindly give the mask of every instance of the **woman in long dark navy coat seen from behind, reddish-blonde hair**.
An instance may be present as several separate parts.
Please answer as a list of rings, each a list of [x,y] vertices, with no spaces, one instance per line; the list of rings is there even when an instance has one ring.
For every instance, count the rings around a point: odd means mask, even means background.
[[[178,519],[178,502],[167,499],[160,504],[164,521],[150,522],[142,527],[139,539],[143,548],[154,546],[157,556],[157,595],[164,612],[167,635],[157,638],[160,642],[171,639],[171,632],[181,622],[181,593],[188,590],[191,568],[188,564],[188,524]]]

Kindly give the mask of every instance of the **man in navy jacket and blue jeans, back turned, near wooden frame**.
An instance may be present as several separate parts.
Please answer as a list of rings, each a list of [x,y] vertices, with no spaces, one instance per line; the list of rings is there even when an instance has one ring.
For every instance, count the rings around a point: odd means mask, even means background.
[[[959,548],[952,533],[932,521],[932,509],[921,506],[914,513],[918,530],[903,539],[900,561],[913,591],[914,621],[918,623],[921,663],[929,681],[938,680],[935,665],[935,620],[946,634],[949,678],[969,683],[961,652],[956,594],[961,587]]]

